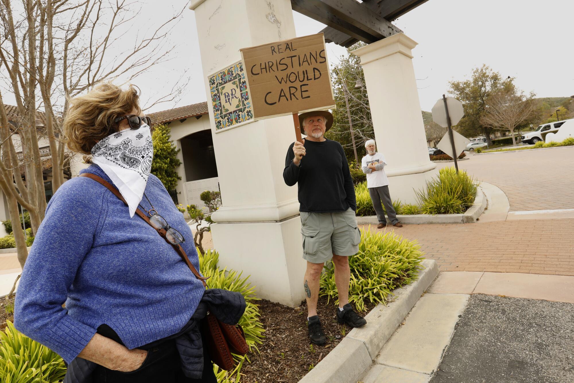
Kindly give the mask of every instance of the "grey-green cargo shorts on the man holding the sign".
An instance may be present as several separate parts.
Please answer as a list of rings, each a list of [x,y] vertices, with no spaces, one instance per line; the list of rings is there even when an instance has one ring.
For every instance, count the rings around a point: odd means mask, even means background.
[[[335,213],[301,212],[303,259],[324,263],[335,255],[359,251],[360,230],[353,209]]]

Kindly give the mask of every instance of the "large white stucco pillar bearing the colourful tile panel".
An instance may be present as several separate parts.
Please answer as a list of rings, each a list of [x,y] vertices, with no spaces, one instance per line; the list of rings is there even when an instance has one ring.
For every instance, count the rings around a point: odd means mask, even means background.
[[[208,76],[241,60],[240,48],[296,37],[289,0],[197,0],[195,10],[223,206],[212,216],[220,265],[251,275],[261,298],[304,300],[297,187],[283,181],[295,140],[290,116],[216,129]]]

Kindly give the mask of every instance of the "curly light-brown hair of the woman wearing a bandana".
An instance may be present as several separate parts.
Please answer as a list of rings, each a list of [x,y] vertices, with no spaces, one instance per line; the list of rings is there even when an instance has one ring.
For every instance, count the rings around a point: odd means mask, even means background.
[[[126,90],[109,82],[96,85],[84,95],[69,99],[64,117],[64,134],[69,150],[89,155],[92,147],[118,128],[114,118],[130,114],[138,104],[138,91],[133,85]],[[84,156],[84,160],[89,159]]]

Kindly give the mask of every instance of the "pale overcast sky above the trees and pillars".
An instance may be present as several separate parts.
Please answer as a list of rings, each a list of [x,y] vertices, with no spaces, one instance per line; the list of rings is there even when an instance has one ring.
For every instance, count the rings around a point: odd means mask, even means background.
[[[138,19],[144,26],[157,24],[174,12],[170,6],[158,7],[157,0],[141,0],[141,3],[144,6]],[[483,63],[501,72],[503,78],[515,77],[519,88],[534,91],[537,97],[574,95],[573,14],[574,2],[566,0],[544,3],[429,0],[394,24],[419,44],[413,49],[414,71],[421,108],[430,111],[448,90],[451,79],[464,79],[472,68]],[[323,24],[296,12],[293,16],[297,36],[311,35],[324,28]],[[183,70],[188,70],[190,82],[176,105],[160,104],[148,112],[195,104],[207,98],[192,10],[184,10],[170,39],[177,46],[172,53],[174,60],[134,83],[144,92],[144,99],[152,99],[170,89]],[[133,44],[127,35],[123,40],[126,47]],[[327,54],[329,62],[336,63],[346,49],[328,44]],[[6,104],[13,104],[3,93]]]

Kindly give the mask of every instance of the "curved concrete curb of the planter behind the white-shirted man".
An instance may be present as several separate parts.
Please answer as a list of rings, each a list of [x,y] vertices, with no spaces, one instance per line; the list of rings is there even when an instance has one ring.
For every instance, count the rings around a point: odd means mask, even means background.
[[[397,215],[397,219],[404,224],[453,224],[453,223],[475,223],[486,209],[486,197],[480,187],[476,190],[474,204],[463,214],[412,214]],[[359,225],[378,225],[377,216],[356,217]]]

